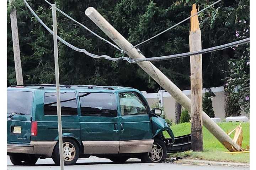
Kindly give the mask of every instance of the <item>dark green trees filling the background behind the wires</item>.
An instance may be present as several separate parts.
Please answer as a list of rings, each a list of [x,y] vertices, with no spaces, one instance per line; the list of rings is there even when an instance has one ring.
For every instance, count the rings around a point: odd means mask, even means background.
[[[50,2],[54,2],[50,0]],[[57,7],[100,36],[108,37],[85,15],[89,6],[96,8],[114,28],[133,45],[150,38],[190,16],[193,3],[199,10],[213,0],[55,0]],[[28,0],[37,15],[50,27],[52,10],[43,0]],[[53,37],[33,17],[23,0],[16,0],[18,31],[24,84],[55,83]],[[7,86],[16,84],[10,7],[7,4]],[[249,0],[223,0],[199,15],[202,48],[235,40],[239,21],[249,25]],[[119,51],[96,38],[86,29],[57,12],[58,35],[71,44],[98,55],[122,56]],[[51,27],[50,27],[51,28]],[[189,51],[190,21],[139,46],[146,57],[171,55]],[[125,61],[96,60],[71,50],[61,42],[59,69],[61,84],[130,86],[141,91],[156,92],[160,86],[137,64]],[[222,86],[228,60],[234,50],[203,54],[203,87]],[[189,57],[153,62],[182,90],[190,89]]]

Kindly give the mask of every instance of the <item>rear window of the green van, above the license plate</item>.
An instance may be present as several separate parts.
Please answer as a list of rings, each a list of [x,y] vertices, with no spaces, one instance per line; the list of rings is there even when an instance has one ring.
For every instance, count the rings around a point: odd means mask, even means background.
[[[33,92],[7,91],[7,114],[17,112],[30,115],[32,101]]]

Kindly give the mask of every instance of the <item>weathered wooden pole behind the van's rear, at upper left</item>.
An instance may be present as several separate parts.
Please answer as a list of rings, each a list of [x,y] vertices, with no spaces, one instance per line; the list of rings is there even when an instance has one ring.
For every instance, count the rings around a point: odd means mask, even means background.
[[[16,8],[12,8],[12,2],[14,0],[9,0],[9,5],[11,6],[11,30],[12,30],[12,46],[14,49],[14,64],[15,64],[15,73],[16,73],[16,81],[17,85],[23,85],[23,77],[22,77],[22,68],[21,68],[21,60],[20,60],[20,44],[18,40],[18,24],[17,24],[17,15]]]

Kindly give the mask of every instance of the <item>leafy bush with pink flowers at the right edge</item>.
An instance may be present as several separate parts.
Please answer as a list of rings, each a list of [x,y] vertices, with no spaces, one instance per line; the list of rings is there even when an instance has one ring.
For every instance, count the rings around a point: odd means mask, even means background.
[[[239,28],[234,32],[236,40],[249,37],[249,23],[240,20]],[[235,55],[228,61],[229,70],[224,85],[226,97],[226,117],[240,116],[241,111],[250,112],[250,48],[249,46],[234,47]]]

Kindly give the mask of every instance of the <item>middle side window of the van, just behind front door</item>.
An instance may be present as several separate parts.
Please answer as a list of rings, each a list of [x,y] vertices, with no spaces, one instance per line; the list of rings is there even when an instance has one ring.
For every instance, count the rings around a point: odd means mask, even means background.
[[[82,116],[117,116],[116,95],[113,93],[79,93]]]

